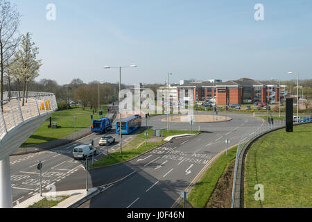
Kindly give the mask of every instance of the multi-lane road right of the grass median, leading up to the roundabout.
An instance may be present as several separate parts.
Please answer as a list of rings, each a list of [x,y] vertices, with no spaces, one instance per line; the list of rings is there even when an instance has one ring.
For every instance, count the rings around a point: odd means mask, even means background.
[[[87,201],[81,208],[168,208],[173,206],[181,191],[189,187],[198,173],[218,153],[239,143],[243,133],[260,126],[263,120],[240,114],[229,114],[232,121],[224,123],[196,123],[205,130],[198,136],[173,139],[153,151],[121,164],[123,170],[133,169],[122,182],[107,185],[105,191]],[[150,126],[162,128],[163,117],[152,117]],[[165,128],[165,127],[164,127]],[[187,123],[173,123],[172,129],[189,130]]]

